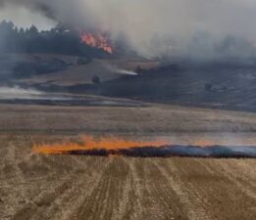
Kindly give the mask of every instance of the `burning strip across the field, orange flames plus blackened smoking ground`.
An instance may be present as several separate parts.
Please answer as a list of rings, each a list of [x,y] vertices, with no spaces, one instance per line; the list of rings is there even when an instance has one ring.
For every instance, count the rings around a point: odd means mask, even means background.
[[[118,137],[95,139],[82,136],[79,142],[34,145],[36,154],[125,155],[139,157],[256,157],[255,146],[221,146],[198,141],[198,145],[171,145],[165,141],[140,142]]]

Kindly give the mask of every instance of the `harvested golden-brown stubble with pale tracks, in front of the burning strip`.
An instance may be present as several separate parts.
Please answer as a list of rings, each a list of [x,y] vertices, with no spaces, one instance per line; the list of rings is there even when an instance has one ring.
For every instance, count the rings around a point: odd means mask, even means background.
[[[0,140],[1,220],[256,216],[253,159],[39,155],[28,136]]]

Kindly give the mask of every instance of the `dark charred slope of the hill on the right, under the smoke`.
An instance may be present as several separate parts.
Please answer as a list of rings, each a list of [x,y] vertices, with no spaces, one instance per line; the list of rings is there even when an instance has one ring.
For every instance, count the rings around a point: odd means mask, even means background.
[[[149,102],[256,110],[256,66],[162,66],[101,85],[77,85],[76,93]]]

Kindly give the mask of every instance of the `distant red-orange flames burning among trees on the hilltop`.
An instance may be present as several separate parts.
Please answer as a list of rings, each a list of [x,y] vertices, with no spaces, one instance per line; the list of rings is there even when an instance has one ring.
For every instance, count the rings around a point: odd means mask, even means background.
[[[80,41],[90,47],[96,47],[113,54],[113,48],[110,46],[109,40],[101,33],[80,33]]]

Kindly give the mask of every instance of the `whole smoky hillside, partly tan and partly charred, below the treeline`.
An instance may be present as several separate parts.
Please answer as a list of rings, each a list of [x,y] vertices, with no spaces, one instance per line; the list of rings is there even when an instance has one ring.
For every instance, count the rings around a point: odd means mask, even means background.
[[[79,59],[46,54],[12,55],[1,60],[1,83],[51,93],[256,110],[254,63],[160,65],[150,60],[94,59],[79,64]],[[94,76],[100,83],[92,83]]]

